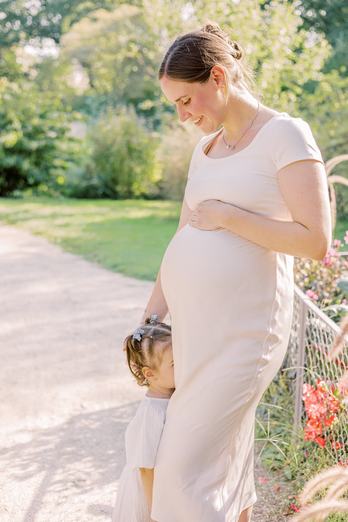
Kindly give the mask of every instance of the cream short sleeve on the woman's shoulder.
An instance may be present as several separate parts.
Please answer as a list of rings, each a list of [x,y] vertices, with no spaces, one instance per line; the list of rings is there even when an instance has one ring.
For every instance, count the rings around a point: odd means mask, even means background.
[[[274,126],[272,149],[277,170],[299,160],[314,159],[325,164],[310,127],[302,118],[284,118]]]

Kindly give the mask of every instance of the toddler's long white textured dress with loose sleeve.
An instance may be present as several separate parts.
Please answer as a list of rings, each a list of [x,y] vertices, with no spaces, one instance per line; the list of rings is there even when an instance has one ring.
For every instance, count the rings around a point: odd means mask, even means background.
[[[154,466],[169,400],[145,395],[127,426],[126,466],[118,481],[112,522],[151,522],[139,468]]]

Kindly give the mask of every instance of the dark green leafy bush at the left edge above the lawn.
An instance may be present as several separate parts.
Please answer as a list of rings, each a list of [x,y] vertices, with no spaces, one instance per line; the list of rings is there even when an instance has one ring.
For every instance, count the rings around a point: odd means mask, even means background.
[[[57,189],[78,153],[67,123],[80,115],[64,108],[61,97],[40,93],[25,80],[0,82],[0,94],[0,195]]]

